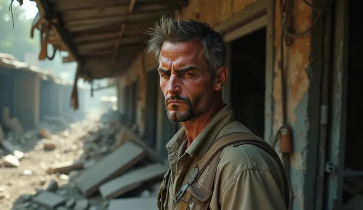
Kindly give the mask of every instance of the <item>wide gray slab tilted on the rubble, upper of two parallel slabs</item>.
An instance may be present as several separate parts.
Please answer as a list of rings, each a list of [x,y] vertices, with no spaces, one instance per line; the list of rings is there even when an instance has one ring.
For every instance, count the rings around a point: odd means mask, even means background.
[[[121,175],[145,157],[145,151],[132,142],[127,142],[110,153],[75,179],[81,193],[89,197],[100,185]]]

